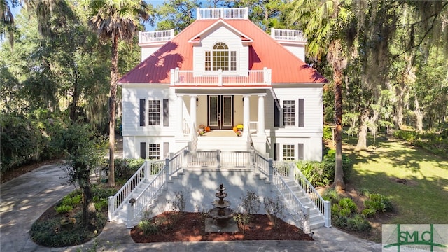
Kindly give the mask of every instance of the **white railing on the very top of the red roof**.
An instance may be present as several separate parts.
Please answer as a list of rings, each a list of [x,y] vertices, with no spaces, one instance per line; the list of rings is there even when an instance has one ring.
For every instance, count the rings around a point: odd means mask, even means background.
[[[248,19],[248,8],[196,8],[197,19]]]

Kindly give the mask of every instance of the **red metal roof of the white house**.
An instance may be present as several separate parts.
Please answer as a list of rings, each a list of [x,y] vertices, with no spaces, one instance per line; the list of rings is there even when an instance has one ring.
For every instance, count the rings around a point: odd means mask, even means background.
[[[170,83],[170,70],[193,70],[193,43],[188,41],[216,20],[196,20],[172,41],[125,74],[118,83]],[[253,39],[249,46],[249,69],[272,69],[272,83],[326,83],[316,70],[295,57],[283,45],[262,31],[250,20],[225,20],[242,34]],[[244,41],[244,39],[243,39]]]

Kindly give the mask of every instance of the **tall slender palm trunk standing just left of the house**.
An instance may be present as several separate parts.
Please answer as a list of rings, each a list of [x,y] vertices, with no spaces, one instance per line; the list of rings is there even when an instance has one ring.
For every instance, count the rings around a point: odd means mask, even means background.
[[[118,35],[112,35],[112,57],[111,57],[111,90],[109,98],[109,178],[108,186],[115,186],[115,111],[118,81]]]

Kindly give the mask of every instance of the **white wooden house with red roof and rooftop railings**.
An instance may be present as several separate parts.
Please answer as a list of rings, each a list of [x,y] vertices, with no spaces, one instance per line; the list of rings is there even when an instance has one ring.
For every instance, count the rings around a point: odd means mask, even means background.
[[[304,62],[305,44],[301,31],[265,33],[247,8],[198,8],[176,36],[140,33],[142,61],[119,80],[123,156],[162,159],[190,143],[321,160],[327,80]],[[198,136],[200,125],[211,131]]]

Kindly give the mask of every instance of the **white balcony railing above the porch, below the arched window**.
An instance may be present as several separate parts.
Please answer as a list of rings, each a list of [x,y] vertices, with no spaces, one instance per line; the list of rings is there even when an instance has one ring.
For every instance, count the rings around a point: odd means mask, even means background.
[[[203,71],[171,70],[172,86],[271,86],[271,69],[251,70],[247,76],[228,75],[223,71],[204,74]]]

